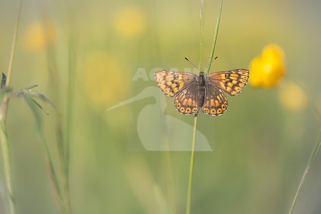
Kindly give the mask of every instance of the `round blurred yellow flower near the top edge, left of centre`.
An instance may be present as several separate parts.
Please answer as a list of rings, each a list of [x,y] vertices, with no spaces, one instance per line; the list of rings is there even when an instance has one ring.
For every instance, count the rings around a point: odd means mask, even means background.
[[[114,14],[114,25],[121,35],[137,37],[145,31],[146,17],[139,8],[127,6]]]

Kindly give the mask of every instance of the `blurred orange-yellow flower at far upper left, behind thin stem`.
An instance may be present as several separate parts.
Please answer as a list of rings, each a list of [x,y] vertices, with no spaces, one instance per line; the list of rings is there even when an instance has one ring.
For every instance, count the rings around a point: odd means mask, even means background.
[[[45,25],[34,22],[24,34],[24,47],[30,51],[39,51],[45,48],[48,41],[54,40],[54,28],[50,22]]]

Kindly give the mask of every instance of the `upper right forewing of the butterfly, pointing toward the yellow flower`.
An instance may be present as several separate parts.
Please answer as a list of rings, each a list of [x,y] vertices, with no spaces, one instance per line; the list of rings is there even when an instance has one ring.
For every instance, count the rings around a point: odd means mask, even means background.
[[[215,85],[231,96],[241,93],[241,88],[247,84],[249,71],[236,69],[231,71],[220,71],[206,75],[206,85]]]

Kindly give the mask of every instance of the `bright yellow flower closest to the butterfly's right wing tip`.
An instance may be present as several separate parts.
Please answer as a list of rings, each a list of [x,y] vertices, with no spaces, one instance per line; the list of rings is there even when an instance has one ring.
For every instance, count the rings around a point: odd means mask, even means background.
[[[251,61],[249,68],[249,82],[252,86],[276,86],[286,73],[284,51],[277,44],[268,44],[262,54]]]

